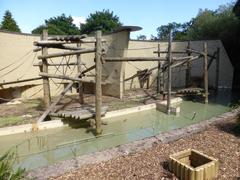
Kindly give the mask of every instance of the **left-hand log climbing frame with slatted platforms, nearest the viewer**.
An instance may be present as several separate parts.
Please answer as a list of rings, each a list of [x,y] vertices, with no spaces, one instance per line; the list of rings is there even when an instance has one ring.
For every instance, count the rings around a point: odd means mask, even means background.
[[[105,114],[106,108],[101,108],[102,104],[102,90],[101,90],[101,77],[102,77],[102,54],[104,50],[102,49],[103,40],[101,38],[101,31],[96,32],[96,37],[92,38],[92,40],[86,40],[87,35],[79,35],[79,36],[55,36],[55,37],[48,37],[47,31],[43,31],[41,41],[34,42],[34,45],[38,48],[35,51],[42,50],[42,55],[38,56],[38,59],[41,60],[39,63],[41,72],[39,73],[40,76],[43,78],[43,92],[44,92],[44,104],[47,108],[43,115],[38,119],[38,122],[44,121],[49,115],[55,115],[60,117],[71,117],[76,119],[86,119],[90,117],[95,117],[96,119],[96,133],[101,133],[101,115]],[[95,43],[94,48],[81,48],[81,43]],[[70,44],[70,45],[68,45]],[[73,46],[73,44],[77,44],[77,46]],[[48,54],[48,48],[55,48],[55,49],[62,49],[62,52],[51,53]],[[81,54],[85,53],[95,53],[95,65],[85,69],[84,71],[81,70]],[[50,58],[57,58],[57,57],[64,57],[64,56],[77,56],[76,66],[78,66],[78,73],[75,77],[70,77],[67,75],[56,75],[56,74],[49,74],[48,73],[48,60]],[[61,66],[63,64],[52,63],[52,66]],[[95,81],[88,81],[84,80],[82,77],[88,71],[95,69]],[[50,83],[49,78],[57,78],[57,79],[64,79],[70,80],[68,85],[64,88],[61,92],[60,96],[57,98],[55,102],[51,102],[51,93],[50,93]],[[67,91],[74,85],[74,82],[78,82],[78,91],[79,91],[79,102],[83,103],[83,90],[82,90],[82,83],[89,82],[96,84],[96,93],[95,93],[95,108],[85,108],[85,109],[74,109],[69,111],[63,112],[55,112],[56,105],[60,102],[62,97],[67,93]]]

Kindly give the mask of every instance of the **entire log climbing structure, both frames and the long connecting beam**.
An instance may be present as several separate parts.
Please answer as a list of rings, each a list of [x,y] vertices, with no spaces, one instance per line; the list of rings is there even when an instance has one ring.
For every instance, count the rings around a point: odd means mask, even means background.
[[[74,118],[74,119],[87,119],[90,117],[95,117],[96,124],[96,133],[101,133],[101,115],[106,113],[107,108],[102,107],[102,64],[110,63],[110,62],[134,62],[134,61],[151,61],[158,62],[156,67],[151,69],[145,69],[143,71],[138,71],[137,74],[127,78],[124,82],[132,80],[135,77],[139,78],[140,82],[147,82],[147,87],[149,87],[149,76],[152,74],[154,70],[157,69],[157,94],[162,94],[163,96],[167,96],[167,113],[170,114],[170,100],[172,94],[200,94],[204,97],[204,102],[208,103],[208,69],[211,66],[211,63],[214,59],[216,59],[216,78],[218,78],[219,73],[219,48],[217,51],[210,55],[207,52],[207,43],[203,43],[203,51],[196,51],[191,48],[190,42],[185,51],[172,51],[172,37],[169,34],[169,42],[167,51],[161,51],[160,44],[158,45],[157,51],[154,51],[154,54],[157,54],[153,57],[109,57],[106,56],[106,50],[103,49],[103,43],[105,40],[101,37],[101,31],[96,32],[96,36],[89,40],[87,35],[79,35],[79,36],[54,36],[48,37],[47,31],[43,32],[42,40],[34,42],[34,45],[37,46],[35,51],[42,50],[42,55],[38,56],[38,59],[41,60],[39,63],[39,67],[41,72],[40,76],[43,78],[43,91],[44,91],[44,103],[47,107],[44,114],[39,118],[38,122],[42,122],[49,115],[58,116],[63,118]],[[81,44],[83,43],[95,43],[94,48],[81,48]],[[69,45],[70,44],[70,45]],[[75,44],[75,45],[74,45]],[[48,48],[61,49],[61,52],[48,54]],[[82,62],[81,62],[81,54],[86,53],[95,53],[95,58],[92,59],[95,61],[95,64],[91,67],[87,67],[85,70],[82,70]],[[161,57],[161,54],[167,54],[165,57]],[[174,57],[174,54],[182,54],[183,56]],[[185,55],[187,54],[187,56]],[[75,77],[70,77],[65,74],[56,75],[48,73],[48,60],[56,57],[65,57],[65,56],[73,56],[77,57],[77,62],[73,63],[73,66],[78,67],[78,73]],[[185,55],[185,56],[184,56]],[[208,61],[210,58],[210,61]],[[203,59],[203,87],[191,87],[191,66],[192,62],[195,60]],[[51,66],[60,66],[62,64],[59,63],[51,63]],[[183,89],[178,89],[176,91],[172,91],[172,69],[180,66],[186,66],[186,87]],[[95,69],[95,81],[84,80],[84,74]],[[55,102],[51,102],[50,95],[50,84],[49,78],[57,78],[57,79],[65,79],[69,80],[67,86],[65,86],[64,90],[61,92],[60,96],[55,100]],[[78,109],[65,109],[56,111],[56,105],[60,102],[62,97],[66,94],[66,92],[74,85],[74,82],[78,83],[78,92],[79,92],[79,102],[80,104],[84,103],[83,99],[83,88],[82,83],[94,83],[95,84],[95,107],[79,107]],[[218,80],[216,80],[218,83]],[[140,83],[140,87],[143,87],[143,84]],[[218,87],[218,85],[216,85]]]

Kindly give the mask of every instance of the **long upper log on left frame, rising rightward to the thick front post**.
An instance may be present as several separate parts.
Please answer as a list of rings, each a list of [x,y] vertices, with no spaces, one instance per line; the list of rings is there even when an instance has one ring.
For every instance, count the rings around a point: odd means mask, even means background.
[[[82,50],[76,50],[76,51],[71,51],[71,52],[52,53],[52,54],[48,54],[48,55],[38,56],[38,59],[47,59],[47,58],[55,58],[55,57],[61,57],[61,56],[86,54],[86,53],[92,53],[92,52],[95,52],[95,48],[82,49]]]

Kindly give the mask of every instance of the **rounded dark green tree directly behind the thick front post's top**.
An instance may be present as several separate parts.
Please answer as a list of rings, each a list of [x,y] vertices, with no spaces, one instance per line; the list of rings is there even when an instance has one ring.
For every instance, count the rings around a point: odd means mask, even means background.
[[[109,10],[96,11],[90,14],[86,19],[86,24],[81,24],[81,33],[90,34],[97,29],[101,29],[103,33],[111,32],[120,27],[122,23],[119,17]]]

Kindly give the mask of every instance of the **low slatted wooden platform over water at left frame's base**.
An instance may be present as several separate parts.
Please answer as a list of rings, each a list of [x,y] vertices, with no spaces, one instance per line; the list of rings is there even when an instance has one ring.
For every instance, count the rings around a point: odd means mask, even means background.
[[[105,115],[108,107],[103,106],[101,110],[101,115]],[[61,118],[72,118],[76,120],[88,119],[95,116],[95,108],[94,107],[82,107],[77,109],[69,109],[69,110],[60,110],[56,113],[51,113],[51,116],[61,117]]]

